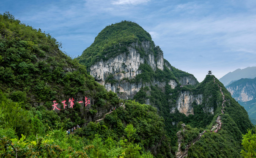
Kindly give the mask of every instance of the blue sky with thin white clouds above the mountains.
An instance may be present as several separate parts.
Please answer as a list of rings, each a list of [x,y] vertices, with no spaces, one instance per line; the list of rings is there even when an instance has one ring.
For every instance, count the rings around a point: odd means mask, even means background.
[[[135,21],[164,58],[201,82],[256,66],[256,0],[1,0],[0,13],[49,33],[72,58],[109,24]]]

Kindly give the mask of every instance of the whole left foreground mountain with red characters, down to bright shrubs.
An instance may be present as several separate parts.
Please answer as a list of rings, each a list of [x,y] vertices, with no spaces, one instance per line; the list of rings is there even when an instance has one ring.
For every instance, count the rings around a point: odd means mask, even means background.
[[[173,156],[156,108],[118,99],[60,47],[0,14],[1,158]]]

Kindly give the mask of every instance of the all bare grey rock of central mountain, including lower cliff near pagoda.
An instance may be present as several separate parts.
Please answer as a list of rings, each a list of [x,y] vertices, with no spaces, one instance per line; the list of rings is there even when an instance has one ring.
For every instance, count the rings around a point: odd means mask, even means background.
[[[153,50],[154,49],[154,50]],[[151,83],[135,83],[131,82],[132,79],[142,73],[139,70],[140,64],[149,64],[153,71],[157,69],[163,70],[164,65],[171,69],[171,64],[169,64],[163,58],[163,53],[159,47],[154,47],[153,43],[150,41],[143,41],[141,44],[132,43],[127,46],[128,52],[119,54],[116,57],[108,59],[107,61],[101,60],[90,67],[90,74],[105,88],[107,91],[113,91],[118,94],[123,99],[132,99],[135,94],[140,91],[144,86],[158,85],[159,88],[164,90],[166,82],[159,82],[157,80],[152,80]],[[141,51],[145,54],[141,55]],[[111,76],[112,81],[108,83],[106,80]],[[197,80],[191,76],[184,76],[178,78],[179,83],[182,85],[192,84],[195,85]],[[170,80],[167,84],[171,88],[178,86],[176,80]],[[171,112],[175,112],[177,108],[179,112],[185,115],[194,114],[192,103],[197,102],[201,104],[202,95],[193,95],[190,92],[184,92],[179,94],[178,99],[176,99],[176,107],[171,109]],[[150,104],[149,99],[146,100],[146,104]],[[171,103],[170,103],[171,104]]]

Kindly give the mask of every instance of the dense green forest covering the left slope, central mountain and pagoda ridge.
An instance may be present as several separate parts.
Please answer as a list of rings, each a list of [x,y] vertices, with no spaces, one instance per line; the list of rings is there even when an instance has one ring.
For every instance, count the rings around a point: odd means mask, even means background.
[[[127,31],[127,27],[131,28]],[[138,24],[120,24],[119,29],[126,36],[108,41],[108,37],[119,37],[110,29],[96,38],[99,49],[88,51],[95,58],[89,54],[91,62],[83,65],[64,54],[61,43],[51,35],[22,24],[8,12],[0,14],[0,157],[174,158],[178,150],[176,133],[182,130],[182,123],[186,124],[182,150],[206,131],[190,147],[188,157],[241,157],[242,134],[253,126],[244,108],[213,75],[206,75],[195,86],[172,89],[166,85],[165,91],[156,85],[145,86],[134,100],[119,99],[88,75],[86,66],[112,57],[114,51],[102,58],[109,46],[151,40]],[[106,41],[108,44],[102,46]],[[145,82],[153,78],[167,82],[186,75],[174,67],[172,71],[166,67],[152,71],[144,64],[140,69],[143,75],[137,80]],[[217,84],[227,100],[224,114]],[[146,95],[149,90],[150,95]],[[178,110],[171,113],[168,100],[175,102],[177,94],[185,91],[203,94],[203,104],[193,105],[195,115],[186,116]],[[154,107],[145,104],[145,99]],[[209,104],[214,115],[203,110]],[[211,133],[218,115],[222,129]],[[68,130],[77,125],[80,128],[69,134]]]

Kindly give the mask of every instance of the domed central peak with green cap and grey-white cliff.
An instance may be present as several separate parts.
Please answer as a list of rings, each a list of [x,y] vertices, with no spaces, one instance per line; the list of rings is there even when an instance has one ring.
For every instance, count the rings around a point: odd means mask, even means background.
[[[149,33],[129,21],[107,26],[77,59],[87,66],[96,81],[124,99],[133,98],[145,85],[169,84],[174,88],[179,81],[198,83],[193,75],[176,69],[177,78],[168,74],[168,83],[161,76],[153,76],[162,75],[164,69],[171,71],[171,64],[163,59],[161,49],[155,46]]]

